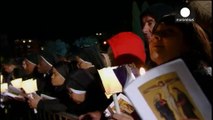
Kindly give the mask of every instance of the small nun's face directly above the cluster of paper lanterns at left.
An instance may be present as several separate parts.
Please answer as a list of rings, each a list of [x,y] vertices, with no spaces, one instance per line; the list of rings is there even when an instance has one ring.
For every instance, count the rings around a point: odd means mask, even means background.
[[[27,74],[31,74],[36,67],[36,64],[31,63],[29,60],[25,59],[22,62],[22,67]]]

